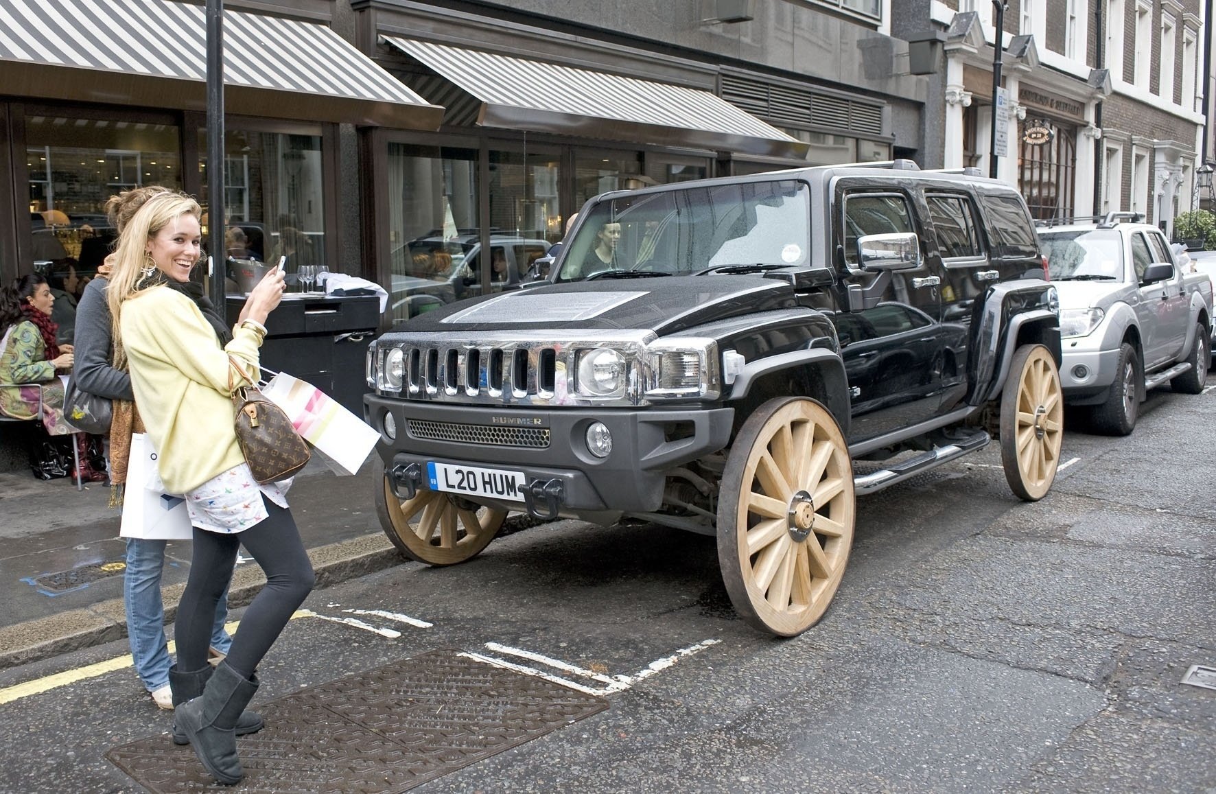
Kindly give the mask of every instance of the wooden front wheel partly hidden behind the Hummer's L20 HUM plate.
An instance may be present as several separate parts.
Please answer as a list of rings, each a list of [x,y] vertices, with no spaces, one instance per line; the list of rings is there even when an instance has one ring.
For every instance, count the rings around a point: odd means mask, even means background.
[[[499,534],[506,511],[479,507],[441,491],[418,490],[402,500],[393,492],[384,461],[376,456],[376,513],[384,534],[402,554],[428,565],[472,559]]]

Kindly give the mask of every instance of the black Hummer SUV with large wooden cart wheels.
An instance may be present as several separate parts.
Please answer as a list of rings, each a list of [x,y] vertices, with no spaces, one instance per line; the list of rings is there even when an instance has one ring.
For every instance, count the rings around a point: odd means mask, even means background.
[[[895,161],[606,193],[546,280],[372,345],[377,507],[433,565],[508,511],[716,535],[736,610],[796,635],[840,582],[855,494],[993,434],[1013,491],[1047,492],[1059,357],[1002,182]]]

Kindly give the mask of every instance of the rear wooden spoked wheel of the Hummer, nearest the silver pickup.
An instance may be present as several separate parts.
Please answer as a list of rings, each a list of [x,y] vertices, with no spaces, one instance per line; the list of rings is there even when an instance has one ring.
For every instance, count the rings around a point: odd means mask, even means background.
[[[1018,499],[1037,502],[1052,488],[1064,444],[1064,399],[1051,350],[1024,344],[1001,394],[1001,462]]]

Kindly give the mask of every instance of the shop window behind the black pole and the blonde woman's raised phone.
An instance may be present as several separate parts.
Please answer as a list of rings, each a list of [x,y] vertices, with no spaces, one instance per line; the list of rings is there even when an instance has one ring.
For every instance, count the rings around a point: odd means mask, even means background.
[[[207,134],[198,134],[207,152]],[[300,266],[325,266],[325,184],[321,136],[229,129],[224,136],[224,241],[227,291],[248,292],[257,263],[283,263],[292,289],[304,289]],[[199,163],[204,236],[208,169]]]

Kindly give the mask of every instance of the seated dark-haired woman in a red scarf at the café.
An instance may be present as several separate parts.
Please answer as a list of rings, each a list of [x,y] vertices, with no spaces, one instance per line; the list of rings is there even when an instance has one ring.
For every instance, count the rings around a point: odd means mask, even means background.
[[[63,382],[57,375],[72,370],[73,348],[60,345],[51,321],[55,295],[36,274],[17,277],[0,289],[0,413],[15,419],[38,419],[49,435],[67,435],[63,421]],[[77,437],[80,477],[106,479],[89,462],[88,439]]]

